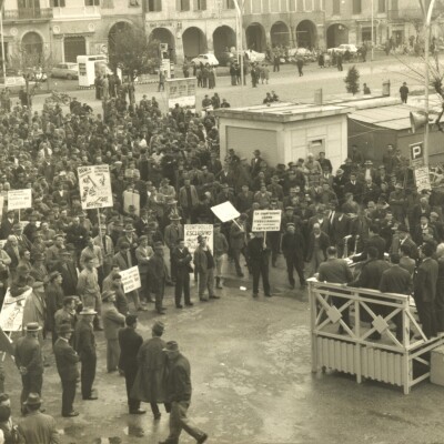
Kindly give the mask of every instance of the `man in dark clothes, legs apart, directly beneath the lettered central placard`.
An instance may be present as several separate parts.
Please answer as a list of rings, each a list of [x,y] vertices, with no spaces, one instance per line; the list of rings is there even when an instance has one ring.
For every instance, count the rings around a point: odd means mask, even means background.
[[[259,280],[261,275],[265,296],[271,297],[269,281],[270,249],[264,242],[262,232],[254,233],[254,238],[249,241],[248,256],[250,258],[253,274],[253,297],[258,297],[259,295]]]

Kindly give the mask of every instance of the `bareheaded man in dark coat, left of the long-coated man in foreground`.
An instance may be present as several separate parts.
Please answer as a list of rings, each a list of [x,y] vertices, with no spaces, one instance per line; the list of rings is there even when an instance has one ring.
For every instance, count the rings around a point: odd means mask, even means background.
[[[140,401],[131,396],[135,375],[138,374],[138,353],[143,343],[142,336],[135,332],[138,316],[129,314],[125,317],[127,326],[119,330],[120,359],[119,369],[123,371],[127,385],[128,408],[130,414],[141,415],[145,413],[140,408]]]

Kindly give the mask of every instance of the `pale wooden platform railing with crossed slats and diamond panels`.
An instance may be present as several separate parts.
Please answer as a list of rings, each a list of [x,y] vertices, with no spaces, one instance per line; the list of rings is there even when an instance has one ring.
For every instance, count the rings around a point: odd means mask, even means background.
[[[309,295],[313,372],[336,370],[355,375],[357,383],[366,377],[402,386],[404,394],[430,377],[431,351],[444,344],[444,335],[427,340],[410,296],[315,279],[309,280]],[[345,310],[350,326],[343,320]],[[370,322],[362,322],[363,315]],[[402,319],[400,340],[392,332],[395,316]],[[374,333],[381,340],[372,339]]]

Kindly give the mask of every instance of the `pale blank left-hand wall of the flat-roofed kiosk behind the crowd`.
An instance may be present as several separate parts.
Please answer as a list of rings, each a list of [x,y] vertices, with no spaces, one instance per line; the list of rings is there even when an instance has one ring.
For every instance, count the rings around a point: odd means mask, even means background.
[[[255,128],[226,127],[226,149],[232,148],[241,158],[252,159],[260,150],[269,163],[279,162],[278,134],[275,131]]]

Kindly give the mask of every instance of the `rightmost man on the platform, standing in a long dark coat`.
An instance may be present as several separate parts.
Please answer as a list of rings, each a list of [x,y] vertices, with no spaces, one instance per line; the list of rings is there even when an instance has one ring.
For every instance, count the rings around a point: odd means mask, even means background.
[[[438,274],[438,264],[432,259],[435,249],[432,243],[424,243],[420,249],[420,258],[422,260],[413,279],[414,299],[423,326],[424,334],[431,339],[436,336],[436,313],[435,296],[436,281]]]

